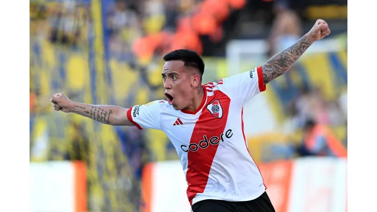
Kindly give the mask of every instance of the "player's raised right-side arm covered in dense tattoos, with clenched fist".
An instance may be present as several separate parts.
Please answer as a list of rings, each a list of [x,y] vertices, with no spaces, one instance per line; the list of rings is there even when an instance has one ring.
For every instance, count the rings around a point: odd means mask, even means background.
[[[311,44],[329,34],[329,25],[326,21],[318,19],[306,35],[292,46],[272,57],[262,66],[264,84],[287,72]]]

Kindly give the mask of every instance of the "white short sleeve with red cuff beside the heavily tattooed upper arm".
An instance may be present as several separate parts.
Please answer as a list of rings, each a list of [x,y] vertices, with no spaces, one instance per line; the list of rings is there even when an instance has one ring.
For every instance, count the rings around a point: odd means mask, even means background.
[[[255,95],[266,90],[262,67],[224,78],[222,87],[230,99],[244,105]]]

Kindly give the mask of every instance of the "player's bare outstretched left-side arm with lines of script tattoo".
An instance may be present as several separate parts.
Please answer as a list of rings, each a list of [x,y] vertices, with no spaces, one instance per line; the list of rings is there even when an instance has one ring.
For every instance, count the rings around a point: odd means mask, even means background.
[[[54,110],[82,115],[103,124],[133,126],[127,118],[126,108],[111,105],[93,105],[71,101],[66,95],[58,93],[50,99]]]

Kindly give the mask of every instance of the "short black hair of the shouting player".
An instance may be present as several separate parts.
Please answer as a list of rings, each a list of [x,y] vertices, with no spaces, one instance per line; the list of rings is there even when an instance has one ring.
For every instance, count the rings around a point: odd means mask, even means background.
[[[164,61],[183,61],[184,66],[193,67],[199,70],[200,81],[202,81],[202,76],[204,73],[204,62],[200,55],[193,50],[189,49],[177,49],[170,51],[163,57]]]

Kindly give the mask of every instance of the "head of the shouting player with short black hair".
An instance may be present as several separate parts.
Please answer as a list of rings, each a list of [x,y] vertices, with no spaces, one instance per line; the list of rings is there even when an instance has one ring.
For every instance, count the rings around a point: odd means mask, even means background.
[[[162,76],[165,95],[175,110],[182,110],[192,104],[198,89],[201,90],[204,62],[197,52],[178,49],[164,56]]]

